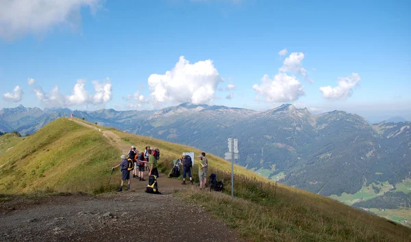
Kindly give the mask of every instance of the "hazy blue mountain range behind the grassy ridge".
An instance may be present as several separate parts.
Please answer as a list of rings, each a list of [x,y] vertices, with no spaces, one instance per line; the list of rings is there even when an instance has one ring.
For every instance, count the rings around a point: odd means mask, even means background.
[[[103,126],[201,148],[224,157],[238,139],[240,165],[323,196],[411,177],[411,122],[369,124],[345,111],[314,115],[282,105],[268,111],[183,103],[156,111],[0,110],[0,131],[31,134],[73,115]],[[149,145],[149,144],[148,144]]]

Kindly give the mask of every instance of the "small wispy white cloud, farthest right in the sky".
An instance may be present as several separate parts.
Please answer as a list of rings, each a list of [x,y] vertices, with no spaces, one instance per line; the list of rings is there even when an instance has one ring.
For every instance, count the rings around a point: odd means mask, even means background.
[[[338,85],[335,88],[331,86],[321,87],[323,98],[334,100],[345,100],[353,94],[353,88],[360,83],[361,77],[358,73],[351,73],[348,77],[338,77]]]

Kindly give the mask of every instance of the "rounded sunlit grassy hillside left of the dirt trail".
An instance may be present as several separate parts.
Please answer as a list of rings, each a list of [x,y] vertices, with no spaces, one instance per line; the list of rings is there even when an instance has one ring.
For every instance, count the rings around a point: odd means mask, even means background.
[[[0,193],[97,191],[119,154],[98,131],[60,118],[0,157]]]

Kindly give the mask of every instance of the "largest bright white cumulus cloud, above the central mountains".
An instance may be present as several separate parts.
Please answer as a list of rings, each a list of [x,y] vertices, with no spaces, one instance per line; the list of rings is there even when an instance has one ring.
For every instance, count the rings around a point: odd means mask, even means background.
[[[184,56],[164,75],[150,75],[151,96],[158,103],[209,103],[223,82],[210,59],[190,64]]]

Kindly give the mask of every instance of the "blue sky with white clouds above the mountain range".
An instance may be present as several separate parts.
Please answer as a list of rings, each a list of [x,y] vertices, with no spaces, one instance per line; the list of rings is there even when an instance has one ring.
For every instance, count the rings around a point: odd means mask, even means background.
[[[0,107],[293,103],[411,119],[410,1],[50,2],[0,1]]]

